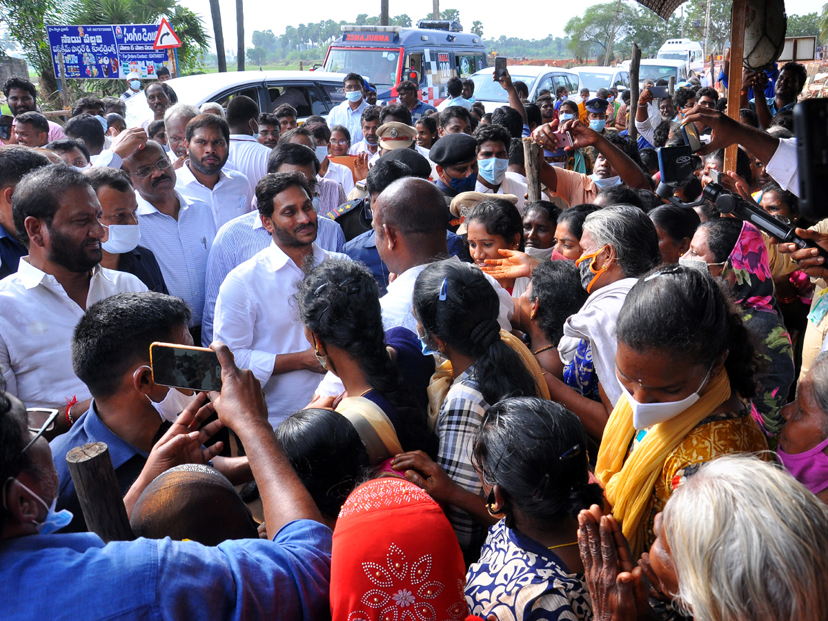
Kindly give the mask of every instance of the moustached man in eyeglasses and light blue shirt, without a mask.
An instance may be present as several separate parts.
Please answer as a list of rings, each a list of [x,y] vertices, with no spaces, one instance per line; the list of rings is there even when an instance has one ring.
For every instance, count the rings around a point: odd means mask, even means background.
[[[207,258],[216,232],[213,210],[176,191],[176,171],[155,141],[127,156],[123,167],[135,185],[143,243],[155,254],[170,295],[190,306],[190,332],[200,343]]]

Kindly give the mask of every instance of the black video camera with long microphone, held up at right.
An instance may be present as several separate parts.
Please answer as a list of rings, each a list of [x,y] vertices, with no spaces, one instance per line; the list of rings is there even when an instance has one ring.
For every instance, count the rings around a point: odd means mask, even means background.
[[[662,181],[658,184],[656,194],[664,200],[670,201],[679,207],[699,207],[705,203],[715,205],[720,214],[733,214],[735,217],[753,224],[768,235],[777,238],[783,243],[795,243],[797,248],[817,248],[821,257],[828,261],[828,251],[820,248],[816,243],[802,239],[795,233],[795,228],[781,219],[768,214],[761,207],[757,207],[741,196],[725,190],[715,180],[705,186],[699,200],[684,203],[676,199],[673,193],[684,187],[694,177],[694,173],[701,167],[701,158],[691,153],[686,145],[677,147],[661,147],[657,149],[658,168],[662,173]],[[695,160],[693,158],[696,158]],[[826,180],[828,181],[828,180]]]

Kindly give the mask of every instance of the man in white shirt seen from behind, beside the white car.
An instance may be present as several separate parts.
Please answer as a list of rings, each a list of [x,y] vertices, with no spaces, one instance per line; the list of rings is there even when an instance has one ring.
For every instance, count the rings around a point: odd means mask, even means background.
[[[267,156],[270,155],[270,149],[253,137],[258,132],[258,113],[258,104],[244,95],[236,95],[227,106],[230,127],[227,164],[248,178],[251,196],[255,195],[258,181],[267,175]]]

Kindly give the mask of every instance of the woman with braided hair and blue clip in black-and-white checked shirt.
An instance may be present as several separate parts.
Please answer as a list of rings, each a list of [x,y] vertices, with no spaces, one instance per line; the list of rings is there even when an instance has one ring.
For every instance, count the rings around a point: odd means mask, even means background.
[[[537,384],[501,340],[498,294],[479,269],[450,259],[431,263],[416,279],[413,302],[423,352],[450,360],[452,382],[436,417],[436,463],[415,451],[397,456],[392,467],[445,506],[460,548],[474,560],[494,519],[471,464],[471,437],[490,406],[504,397],[537,397]]]

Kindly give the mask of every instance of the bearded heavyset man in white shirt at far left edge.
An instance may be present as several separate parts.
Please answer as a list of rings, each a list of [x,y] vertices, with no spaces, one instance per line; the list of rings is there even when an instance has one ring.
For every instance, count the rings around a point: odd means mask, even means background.
[[[65,431],[67,404],[79,402],[75,418],[89,407],[89,391],[72,371],[75,325],[94,302],[147,287],[132,274],[100,267],[103,212],[89,181],[71,166],[25,176],[12,211],[29,254],[0,281],[0,372],[7,392],[26,406],[59,408]]]

